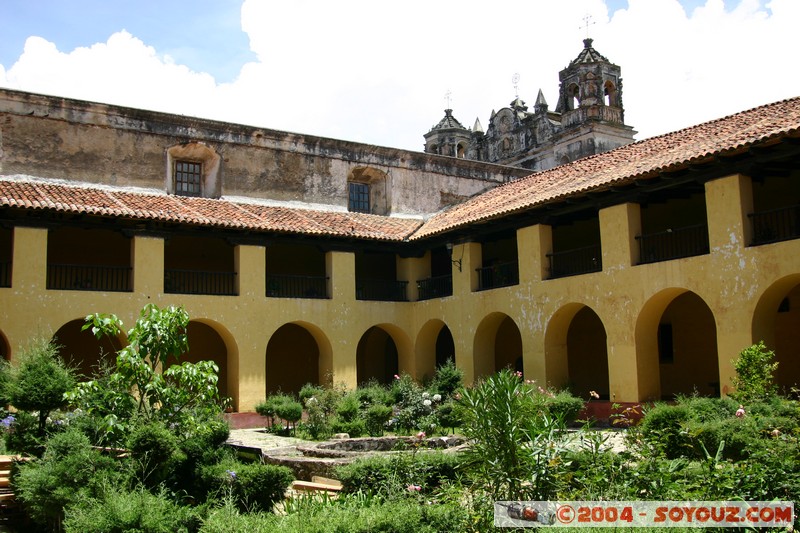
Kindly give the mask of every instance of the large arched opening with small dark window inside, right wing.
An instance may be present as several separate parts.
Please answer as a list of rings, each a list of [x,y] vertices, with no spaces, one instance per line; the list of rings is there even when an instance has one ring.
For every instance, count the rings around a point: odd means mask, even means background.
[[[637,320],[636,351],[640,399],[719,396],[716,322],[697,294],[666,289],[653,296]]]

